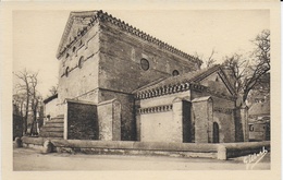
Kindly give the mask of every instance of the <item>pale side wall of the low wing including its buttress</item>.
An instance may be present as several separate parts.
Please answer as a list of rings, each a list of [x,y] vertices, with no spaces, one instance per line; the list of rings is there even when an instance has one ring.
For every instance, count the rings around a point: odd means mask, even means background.
[[[162,96],[163,100],[151,99],[159,101],[156,104],[151,104],[150,99],[136,101],[138,140],[142,142],[193,142],[190,103],[185,100],[189,92],[180,93],[173,100],[171,95]],[[176,96],[181,97],[176,98]]]

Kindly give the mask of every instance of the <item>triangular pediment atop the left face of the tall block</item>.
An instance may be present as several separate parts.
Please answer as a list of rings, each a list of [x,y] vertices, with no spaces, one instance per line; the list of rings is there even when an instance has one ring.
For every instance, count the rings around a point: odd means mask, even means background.
[[[67,19],[61,41],[58,47],[57,58],[65,51],[65,47],[71,46],[79,36],[83,36],[87,28],[94,25],[99,11],[76,11],[71,12]],[[70,39],[70,35],[72,37]]]

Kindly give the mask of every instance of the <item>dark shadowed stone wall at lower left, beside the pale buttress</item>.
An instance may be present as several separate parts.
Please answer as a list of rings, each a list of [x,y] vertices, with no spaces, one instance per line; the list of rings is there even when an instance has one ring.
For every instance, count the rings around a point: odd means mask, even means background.
[[[66,128],[69,140],[98,140],[97,106],[67,100]]]

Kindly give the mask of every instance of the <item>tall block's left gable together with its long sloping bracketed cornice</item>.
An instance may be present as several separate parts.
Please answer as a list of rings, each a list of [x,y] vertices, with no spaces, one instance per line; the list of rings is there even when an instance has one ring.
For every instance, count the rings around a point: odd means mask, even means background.
[[[143,31],[133,27],[132,25],[125,23],[124,21],[121,21],[120,19],[113,17],[111,14],[108,14],[103,11],[81,11],[81,12],[71,12],[69,20],[66,22],[66,26],[63,33],[63,36],[61,38],[57,58],[59,59],[61,55],[64,53],[67,47],[72,46],[73,43],[75,43],[79,36],[83,36],[91,26],[98,22],[98,21],[106,21],[109,22],[115,26],[118,26],[120,29],[127,32],[138,38],[142,38],[143,40],[146,40],[148,43],[155,44],[159,48],[163,50],[168,50],[176,56],[183,57],[194,63],[197,63],[199,67],[201,65],[202,61],[198,59],[197,57],[190,56],[186,52],[183,52],[175,47],[157,39],[156,37],[152,37]],[[69,38],[70,34],[74,33],[74,39]]]

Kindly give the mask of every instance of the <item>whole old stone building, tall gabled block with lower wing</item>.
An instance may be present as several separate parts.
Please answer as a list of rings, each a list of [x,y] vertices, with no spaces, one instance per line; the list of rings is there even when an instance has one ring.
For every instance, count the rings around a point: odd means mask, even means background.
[[[46,103],[57,115],[41,136],[235,141],[235,96],[220,65],[200,70],[198,58],[106,12],[71,12],[57,58],[58,97]]]

